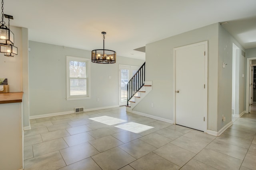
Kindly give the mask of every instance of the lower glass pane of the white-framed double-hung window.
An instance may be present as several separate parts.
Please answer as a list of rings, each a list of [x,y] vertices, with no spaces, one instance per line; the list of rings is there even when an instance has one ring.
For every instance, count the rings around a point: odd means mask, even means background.
[[[87,95],[86,79],[70,78],[70,96]]]

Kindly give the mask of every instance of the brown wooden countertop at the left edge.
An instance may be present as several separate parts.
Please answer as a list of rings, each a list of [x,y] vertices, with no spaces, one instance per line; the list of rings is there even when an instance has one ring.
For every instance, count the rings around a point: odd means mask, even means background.
[[[0,104],[22,102],[23,92],[0,93]]]

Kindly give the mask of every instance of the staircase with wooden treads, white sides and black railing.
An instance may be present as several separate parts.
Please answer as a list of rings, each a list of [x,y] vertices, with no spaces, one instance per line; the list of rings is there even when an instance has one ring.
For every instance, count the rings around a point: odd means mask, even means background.
[[[132,109],[152,90],[152,82],[145,81],[145,64],[146,62],[127,84],[126,111],[132,112]]]

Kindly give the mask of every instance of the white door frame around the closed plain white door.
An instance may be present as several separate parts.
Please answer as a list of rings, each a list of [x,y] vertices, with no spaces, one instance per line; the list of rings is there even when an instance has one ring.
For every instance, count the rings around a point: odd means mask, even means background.
[[[208,41],[202,41],[200,43],[194,43],[190,45],[185,45],[182,47],[176,47],[173,49],[173,124],[176,124],[176,50],[186,49],[190,47],[195,47],[198,45],[204,45],[205,58],[204,58],[204,132],[207,131],[207,113],[208,113]]]

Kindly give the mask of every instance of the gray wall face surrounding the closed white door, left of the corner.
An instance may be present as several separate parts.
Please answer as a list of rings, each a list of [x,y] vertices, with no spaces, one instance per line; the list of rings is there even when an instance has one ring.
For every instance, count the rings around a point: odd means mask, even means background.
[[[153,89],[135,111],[173,119],[173,49],[202,41],[208,41],[208,129],[217,131],[218,23],[146,45],[146,80]]]

